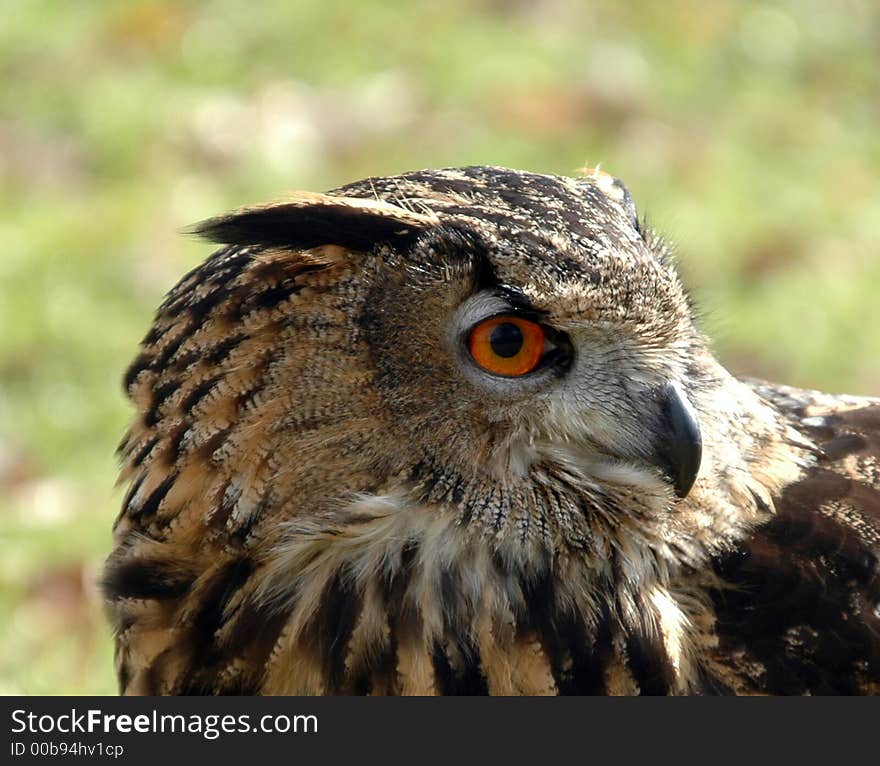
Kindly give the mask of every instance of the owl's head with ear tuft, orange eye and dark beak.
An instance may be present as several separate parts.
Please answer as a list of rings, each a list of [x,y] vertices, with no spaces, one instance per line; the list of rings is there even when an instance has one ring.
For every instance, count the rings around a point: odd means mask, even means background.
[[[687,558],[735,526],[722,506],[767,494],[743,477],[775,419],[605,173],[415,172],[196,230],[225,248],[171,291],[127,379],[127,505],[157,524],[198,498],[246,540],[380,498],[498,547],[631,528],[634,550]]]

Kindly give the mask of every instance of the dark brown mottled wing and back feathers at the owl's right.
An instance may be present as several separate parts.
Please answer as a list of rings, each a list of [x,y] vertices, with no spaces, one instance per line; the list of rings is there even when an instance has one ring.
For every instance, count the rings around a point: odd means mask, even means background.
[[[758,385],[820,452],[716,561],[715,680],[737,693],[880,692],[880,401]]]

